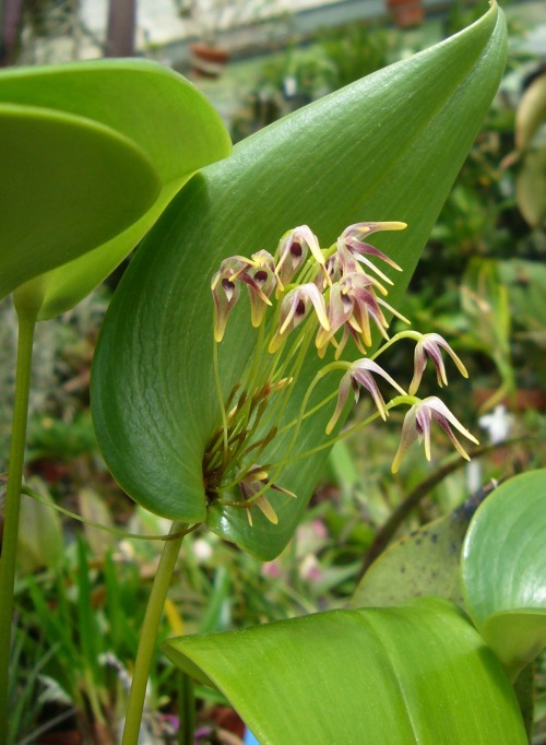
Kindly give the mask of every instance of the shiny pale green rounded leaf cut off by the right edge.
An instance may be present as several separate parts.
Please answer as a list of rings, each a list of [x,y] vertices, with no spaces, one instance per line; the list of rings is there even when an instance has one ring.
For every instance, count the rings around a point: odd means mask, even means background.
[[[546,646],[546,470],[510,478],[480,506],[462,579],[476,627],[515,676]]]

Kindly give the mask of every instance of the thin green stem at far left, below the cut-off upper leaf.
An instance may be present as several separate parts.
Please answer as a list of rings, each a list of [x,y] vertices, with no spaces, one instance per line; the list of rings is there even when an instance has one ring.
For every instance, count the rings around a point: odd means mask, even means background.
[[[20,316],[17,341],[17,368],[15,401],[11,428],[9,475],[5,492],[5,513],[0,558],[0,745],[8,742],[8,684],[13,615],[13,584],[17,555],[19,516],[21,511],[21,486],[25,457],[26,423],[35,319]]]

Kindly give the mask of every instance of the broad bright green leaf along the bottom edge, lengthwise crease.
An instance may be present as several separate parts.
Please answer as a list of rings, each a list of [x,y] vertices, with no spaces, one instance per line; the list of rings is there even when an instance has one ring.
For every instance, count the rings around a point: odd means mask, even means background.
[[[182,637],[165,651],[217,687],[261,745],[526,743],[501,664],[443,601]]]

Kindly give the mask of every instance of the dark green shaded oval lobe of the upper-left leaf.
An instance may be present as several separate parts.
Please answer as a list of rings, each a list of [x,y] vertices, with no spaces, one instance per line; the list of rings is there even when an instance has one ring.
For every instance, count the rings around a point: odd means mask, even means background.
[[[84,117],[0,104],[0,296],[124,229],[157,198],[134,142]]]

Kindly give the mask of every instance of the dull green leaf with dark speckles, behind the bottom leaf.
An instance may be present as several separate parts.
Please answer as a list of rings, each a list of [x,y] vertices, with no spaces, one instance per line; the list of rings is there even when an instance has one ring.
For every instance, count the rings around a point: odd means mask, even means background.
[[[390,546],[358,583],[351,601],[353,607],[400,605],[422,595],[463,605],[461,551],[478,504],[471,497],[451,515],[414,530]]]

